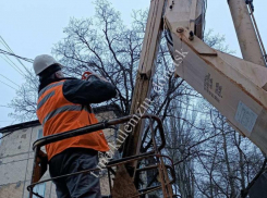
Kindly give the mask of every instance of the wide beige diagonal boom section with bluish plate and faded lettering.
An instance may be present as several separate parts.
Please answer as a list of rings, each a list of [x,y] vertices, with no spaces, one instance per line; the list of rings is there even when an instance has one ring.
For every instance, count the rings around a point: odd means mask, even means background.
[[[180,30],[172,33],[173,49],[186,57],[175,61],[175,74],[267,153],[267,69],[214,50],[197,37],[190,40],[190,32]]]

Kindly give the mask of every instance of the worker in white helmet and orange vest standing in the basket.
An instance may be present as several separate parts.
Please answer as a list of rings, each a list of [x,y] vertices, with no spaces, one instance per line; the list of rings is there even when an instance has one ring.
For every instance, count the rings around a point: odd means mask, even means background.
[[[116,87],[97,75],[94,81],[65,78],[62,65],[51,55],[41,54],[34,60],[39,76],[37,116],[44,136],[53,135],[90,124],[97,119],[89,103],[99,103],[116,97]],[[90,76],[89,76],[90,77]],[[46,146],[51,177],[94,169],[98,151],[109,147],[102,131],[60,140]],[[99,178],[93,174],[77,174],[54,180],[59,198],[100,198]]]

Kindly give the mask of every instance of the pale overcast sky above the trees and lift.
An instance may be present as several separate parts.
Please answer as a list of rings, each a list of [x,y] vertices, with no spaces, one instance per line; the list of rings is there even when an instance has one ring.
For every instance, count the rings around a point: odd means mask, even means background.
[[[3,3],[4,2],[4,3]],[[121,12],[125,24],[131,23],[132,10],[146,9],[149,0],[111,0],[113,7]],[[255,0],[255,16],[264,40],[267,45],[266,11],[267,1]],[[41,53],[50,53],[51,48],[64,37],[62,32],[70,17],[90,17],[94,15],[93,0],[9,0],[0,3],[0,36],[10,48],[19,55],[34,59]],[[238,39],[227,0],[208,0],[206,15],[206,30],[213,28],[215,33],[226,36],[226,42],[235,55],[241,57]],[[0,49],[5,50],[2,44]],[[14,124],[14,120],[8,114],[12,109],[7,106],[14,97],[15,89],[24,79],[0,55],[0,127]],[[24,73],[22,65],[13,58],[11,60]],[[27,67],[31,63],[23,62]],[[3,76],[14,83],[9,82]],[[17,84],[17,85],[15,85]],[[14,88],[14,89],[13,89]]]

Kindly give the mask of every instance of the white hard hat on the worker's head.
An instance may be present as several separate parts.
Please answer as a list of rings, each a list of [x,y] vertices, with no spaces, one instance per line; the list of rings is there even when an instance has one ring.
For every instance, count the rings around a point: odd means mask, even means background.
[[[62,67],[62,65],[59,62],[57,62],[51,55],[48,54],[37,55],[34,60],[35,74],[39,75],[44,70],[46,70],[47,67],[56,63]]]

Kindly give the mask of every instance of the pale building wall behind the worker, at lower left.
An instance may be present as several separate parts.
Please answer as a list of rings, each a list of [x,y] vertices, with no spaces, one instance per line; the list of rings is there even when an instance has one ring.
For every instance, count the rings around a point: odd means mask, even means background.
[[[102,120],[113,117],[111,113],[99,114]],[[26,189],[29,185],[34,152],[33,143],[37,139],[38,129],[41,126],[35,126],[13,132],[2,139],[0,144],[0,198],[28,198]],[[113,143],[113,132],[105,131],[106,138]],[[47,172],[43,180],[49,178]],[[109,185],[107,178],[101,178],[102,195],[109,195]],[[56,198],[56,187],[49,182],[45,186],[45,197]]]

